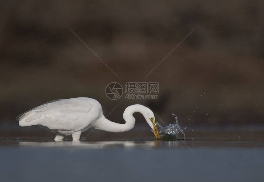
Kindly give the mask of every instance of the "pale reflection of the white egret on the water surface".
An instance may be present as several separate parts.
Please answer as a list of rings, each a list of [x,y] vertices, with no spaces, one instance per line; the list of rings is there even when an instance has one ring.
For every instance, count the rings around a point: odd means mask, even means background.
[[[19,146],[43,146],[43,147],[78,147],[76,149],[105,149],[105,148],[154,148],[154,147],[178,147],[180,141],[103,141],[103,142],[80,142],[80,141],[49,141],[32,142],[20,141]]]

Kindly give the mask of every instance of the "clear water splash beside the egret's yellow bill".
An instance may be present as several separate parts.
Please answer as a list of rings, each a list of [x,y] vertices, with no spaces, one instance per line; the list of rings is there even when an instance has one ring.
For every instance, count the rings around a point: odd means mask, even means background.
[[[157,123],[157,125],[160,127],[160,136],[161,140],[175,140],[179,139],[180,137],[177,136],[180,132],[184,135],[185,140],[185,134],[183,130],[181,129],[179,123],[178,123],[178,116],[175,114],[172,114],[175,116],[176,124],[169,124],[169,126],[162,127],[160,124]]]

